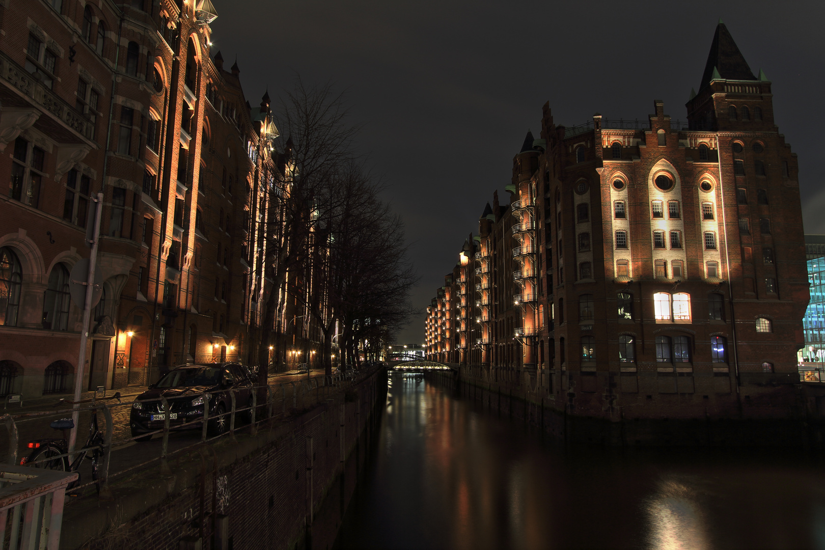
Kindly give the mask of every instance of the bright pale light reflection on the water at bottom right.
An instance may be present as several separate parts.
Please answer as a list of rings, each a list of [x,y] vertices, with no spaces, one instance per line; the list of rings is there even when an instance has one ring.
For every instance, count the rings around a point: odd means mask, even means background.
[[[648,501],[647,548],[655,550],[705,550],[711,548],[708,529],[690,487],[662,482],[659,493]]]

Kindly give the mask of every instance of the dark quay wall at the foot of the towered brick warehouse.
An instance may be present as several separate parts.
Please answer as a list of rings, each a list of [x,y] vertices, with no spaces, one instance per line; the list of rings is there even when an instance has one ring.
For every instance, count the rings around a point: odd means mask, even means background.
[[[431,371],[426,376],[427,380],[452,389],[457,396],[571,443],[825,448],[825,384],[822,388],[788,385],[782,405],[775,405],[772,414],[765,410],[771,407],[770,403],[743,399],[741,407],[724,414],[700,411],[686,415],[684,411],[679,414],[661,408],[647,417],[627,417],[621,407],[615,407],[614,411],[595,417],[569,407],[568,395],[563,395],[562,401],[541,384],[531,384],[526,372],[513,369],[498,374],[495,380],[485,375],[485,370],[456,365],[452,371]],[[793,407],[786,405],[789,401]]]

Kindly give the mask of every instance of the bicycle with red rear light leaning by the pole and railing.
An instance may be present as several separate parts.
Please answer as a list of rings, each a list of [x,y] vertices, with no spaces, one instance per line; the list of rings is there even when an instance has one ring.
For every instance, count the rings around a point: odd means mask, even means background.
[[[109,401],[117,399],[120,403],[120,392],[115,393],[111,397],[102,397],[101,399],[84,399],[82,401],[71,401],[69,399],[61,399],[61,402],[70,405],[79,405],[81,403],[98,403],[101,401]],[[92,408],[92,418],[89,421],[89,436],[86,444],[77,451],[73,461],[69,462],[68,457],[68,439],[66,437],[66,430],[71,430],[74,427],[74,421],[71,418],[61,418],[60,420],[50,423],[50,427],[54,430],[61,430],[63,438],[33,440],[29,442],[29,448],[34,449],[28,458],[26,458],[26,465],[32,468],[46,468],[50,470],[59,470],[61,472],[78,472],[83,459],[86,458],[89,452],[92,452],[92,481],[95,482],[97,492],[100,492],[100,482],[97,479],[97,463],[103,456],[103,433],[97,426],[97,407]],[[78,479],[69,483],[66,490],[69,491],[80,484],[80,473],[78,472]],[[73,496],[73,495],[70,495]]]

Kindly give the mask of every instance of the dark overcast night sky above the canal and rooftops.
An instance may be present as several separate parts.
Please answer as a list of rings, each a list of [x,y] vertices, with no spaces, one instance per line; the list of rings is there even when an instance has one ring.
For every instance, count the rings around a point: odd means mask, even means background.
[[[213,0],[214,46],[238,56],[247,99],[273,101],[297,72],[346,89],[358,147],[402,214],[421,275],[413,305],[444,284],[484,204],[510,181],[527,129],[646,120],[653,100],[686,120],[721,18],[773,82],[775,120],[799,155],[806,233],[825,233],[815,167],[825,137],[825,2]],[[423,316],[398,335],[423,343]]]

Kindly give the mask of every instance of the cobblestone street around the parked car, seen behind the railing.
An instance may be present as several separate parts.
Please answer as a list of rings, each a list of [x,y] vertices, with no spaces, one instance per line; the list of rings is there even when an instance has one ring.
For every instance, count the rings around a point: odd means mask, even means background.
[[[323,370],[310,371],[309,379],[312,378],[323,378]],[[283,414],[285,411],[290,411],[293,408],[293,403],[295,403],[295,407],[297,408],[304,408],[323,399],[325,392],[321,380],[318,380],[318,386],[322,386],[320,389],[314,389],[309,394],[303,393],[304,384],[302,384],[302,382],[306,382],[307,380],[307,374],[296,371],[270,375],[269,383],[275,399],[273,410],[276,416]],[[314,383],[312,386],[314,387]],[[125,468],[138,466],[153,458],[158,458],[161,454],[163,444],[162,435],[154,435],[152,440],[143,443],[126,441],[131,437],[129,416],[132,402],[134,402],[135,397],[145,390],[145,387],[121,388],[117,390],[121,396],[120,403],[114,400],[106,401],[112,416],[113,448],[111,452],[111,473],[121,472]],[[106,397],[111,397],[113,394],[114,392],[109,390],[106,392]],[[59,430],[53,430],[49,425],[51,421],[59,418],[71,417],[71,405],[61,401],[60,397],[71,399],[71,396],[68,395],[40,397],[24,402],[23,407],[12,405],[9,406],[7,410],[2,411],[2,414],[11,414],[15,417],[18,435],[16,463],[19,464],[21,458],[31,454],[32,449],[29,448],[30,442],[43,439],[60,439],[63,436]],[[94,393],[92,392],[82,393],[82,399],[91,399],[92,397],[94,397]],[[86,403],[82,407],[89,407],[90,405],[91,403]],[[49,416],[21,418],[23,414],[36,411],[55,412]],[[82,444],[87,439],[90,421],[91,411],[82,411],[78,422],[78,449],[82,447]],[[98,423],[101,430],[105,430],[105,416],[101,409],[98,409]],[[243,425],[240,418],[236,420],[236,428],[238,430],[248,430],[248,426]],[[65,435],[68,437],[68,430]],[[196,444],[200,441],[200,437],[200,426],[196,426],[196,429],[193,430],[171,432],[169,434],[168,453],[172,453],[176,449],[181,449],[187,445]],[[0,456],[2,456],[4,462],[9,460],[9,443],[8,430],[2,430],[2,428],[0,428]],[[82,482],[91,481],[91,463],[89,460],[84,461],[79,471],[81,472]]]

